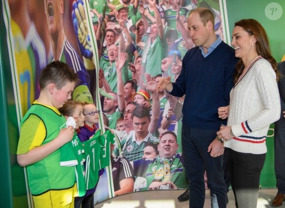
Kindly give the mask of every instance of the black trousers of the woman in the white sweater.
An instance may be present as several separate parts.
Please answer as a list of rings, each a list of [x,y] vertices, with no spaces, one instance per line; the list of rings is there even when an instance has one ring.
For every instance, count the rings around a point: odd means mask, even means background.
[[[228,149],[228,173],[237,208],[256,208],[265,156]]]

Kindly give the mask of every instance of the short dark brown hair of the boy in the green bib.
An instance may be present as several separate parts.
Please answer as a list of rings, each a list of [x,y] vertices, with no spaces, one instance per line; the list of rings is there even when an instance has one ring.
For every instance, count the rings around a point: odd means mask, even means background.
[[[66,63],[53,61],[42,71],[39,78],[39,85],[44,89],[48,84],[54,83],[60,90],[67,82],[78,83],[77,75]]]

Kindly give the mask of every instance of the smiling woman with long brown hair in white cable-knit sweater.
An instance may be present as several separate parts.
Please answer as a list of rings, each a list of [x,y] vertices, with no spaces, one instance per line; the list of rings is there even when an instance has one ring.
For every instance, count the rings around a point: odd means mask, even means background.
[[[266,135],[280,118],[278,71],[264,28],[253,19],[235,23],[231,45],[236,65],[229,106],[218,109],[228,117],[217,139],[228,148],[228,171],[236,207],[255,208],[260,172],[266,155]]]

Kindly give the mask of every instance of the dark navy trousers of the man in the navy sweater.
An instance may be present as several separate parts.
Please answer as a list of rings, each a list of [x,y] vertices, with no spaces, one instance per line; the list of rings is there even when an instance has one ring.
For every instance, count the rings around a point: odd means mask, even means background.
[[[201,130],[182,125],[182,151],[189,179],[190,208],[203,208],[205,201],[204,171],[208,188],[217,196],[219,208],[226,208],[227,189],[224,180],[223,156],[212,157],[208,146],[217,130]]]

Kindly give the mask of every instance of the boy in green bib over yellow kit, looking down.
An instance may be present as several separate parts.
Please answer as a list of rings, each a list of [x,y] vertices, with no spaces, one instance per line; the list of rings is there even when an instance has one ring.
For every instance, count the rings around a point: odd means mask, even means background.
[[[58,108],[71,99],[77,80],[67,64],[48,64],[39,78],[39,98],[21,121],[17,161],[27,167],[34,208],[74,206],[74,167],[60,166],[61,147],[72,140],[74,129],[61,129],[66,119]]]

